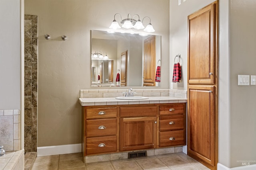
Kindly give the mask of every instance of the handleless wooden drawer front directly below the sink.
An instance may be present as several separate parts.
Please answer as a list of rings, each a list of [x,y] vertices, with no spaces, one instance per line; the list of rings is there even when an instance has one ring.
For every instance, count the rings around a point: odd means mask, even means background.
[[[120,107],[120,117],[157,115],[157,106]]]

